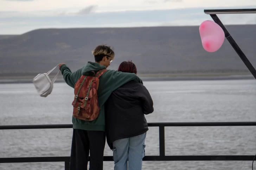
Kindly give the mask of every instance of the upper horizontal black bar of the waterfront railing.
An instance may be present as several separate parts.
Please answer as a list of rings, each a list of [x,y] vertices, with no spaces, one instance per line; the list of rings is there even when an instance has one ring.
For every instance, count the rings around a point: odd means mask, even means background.
[[[149,127],[199,127],[199,126],[256,126],[256,122],[164,122],[148,123]],[[38,125],[1,125],[0,130],[8,129],[61,129],[72,128],[72,124],[38,124]]]

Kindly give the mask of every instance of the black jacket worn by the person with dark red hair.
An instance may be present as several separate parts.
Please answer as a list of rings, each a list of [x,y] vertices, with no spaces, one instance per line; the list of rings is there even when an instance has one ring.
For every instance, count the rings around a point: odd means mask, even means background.
[[[116,89],[105,102],[107,143],[134,137],[148,131],[144,116],[154,111],[152,98],[145,86],[130,81]]]

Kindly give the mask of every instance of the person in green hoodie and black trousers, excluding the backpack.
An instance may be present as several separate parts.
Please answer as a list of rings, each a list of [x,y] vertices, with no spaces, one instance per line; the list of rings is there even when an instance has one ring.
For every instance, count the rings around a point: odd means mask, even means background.
[[[89,75],[91,71],[106,69],[114,61],[115,53],[109,46],[100,45],[93,51],[95,62],[88,62],[82,68],[71,72],[66,64],[59,64],[59,69],[65,82],[72,88],[82,75]],[[99,79],[98,103],[100,114],[93,121],[83,121],[72,117],[73,137],[71,144],[70,170],[87,170],[90,152],[89,170],[103,170],[103,154],[105,147],[105,113],[104,103],[110,94],[129,81],[142,83],[134,73],[123,73],[107,70]]]

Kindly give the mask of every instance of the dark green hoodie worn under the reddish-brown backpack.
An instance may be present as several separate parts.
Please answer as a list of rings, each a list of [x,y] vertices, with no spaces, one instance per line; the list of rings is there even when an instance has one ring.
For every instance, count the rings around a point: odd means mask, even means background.
[[[60,67],[60,71],[63,75],[65,82],[70,87],[74,88],[75,83],[82,75],[90,75],[90,71],[98,71],[105,68],[105,66],[102,66],[98,63],[88,62],[87,64],[85,64],[85,66],[76,70],[76,72],[74,73],[71,72],[66,64],[63,64]],[[99,116],[93,121],[83,121],[72,117],[73,129],[105,131],[104,103],[107,101],[108,97],[114,90],[131,80],[142,83],[141,79],[137,77],[134,73],[123,73],[116,70],[107,70],[100,77],[99,87],[97,90],[98,102],[101,108]]]

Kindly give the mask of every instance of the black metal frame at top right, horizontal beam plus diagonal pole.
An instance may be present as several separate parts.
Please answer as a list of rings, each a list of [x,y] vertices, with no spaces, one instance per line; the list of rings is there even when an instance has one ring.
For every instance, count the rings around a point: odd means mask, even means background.
[[[205,14],[210,14],[211,18],[214,22],[216,22],[225,33],[226,39],[229,41],[230,45],[233,47],[233,49],[236,51],[236,53],[239,55],[241,60],[244,62],[245,66],[250,70],[251,74],[256,79],[256,70],[248,60],[248,58],[245,56],[241,48],[237,45],[236,41],[232,38],[228,30],[225,28],[223,23],[220,21],[218,16],[216,14],[246,14],[246,13],[256,13],[256,9],[205,9]]]

